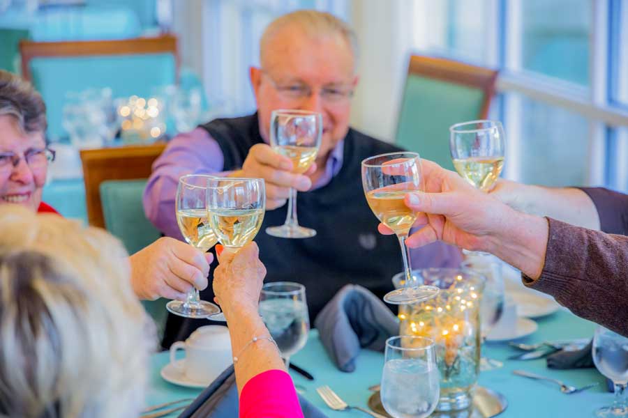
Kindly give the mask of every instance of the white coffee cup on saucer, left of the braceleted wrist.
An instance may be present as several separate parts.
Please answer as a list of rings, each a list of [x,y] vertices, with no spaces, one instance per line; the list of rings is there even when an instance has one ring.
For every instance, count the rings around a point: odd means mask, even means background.
[[[186,352],[183,362],[175,359],[179,349]],[[186,341],[177,341],[170,346],[170,363],[194,382],[209,385],[232,362],[229,330],[223,325],[197,328]]]

